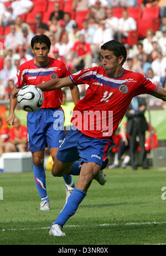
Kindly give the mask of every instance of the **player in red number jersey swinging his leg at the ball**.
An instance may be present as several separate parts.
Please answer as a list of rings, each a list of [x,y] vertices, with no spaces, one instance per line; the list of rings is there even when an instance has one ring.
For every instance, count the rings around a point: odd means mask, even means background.
[[[69,131],[56,155],[52,173],[63,176],[70,173],[74,161],[81,157],[82,166],[77,187],[69,196],[49,234],[64,236],[62,228],[76,213],[87,190],[96,179],[102,180],[102,157],[111,145],[112,135],[125,115],[134,96],[149,93],[166,101],[166,90],[158,88],[140,73],[123,69],[126,61],[125,46],[115,40],[101,46],[102,67],[81,70],[69,77],[38,85],[43,90],[58,90],[65,86],[87,83],[84,99],[77,102],[72,116],[74,127]]]

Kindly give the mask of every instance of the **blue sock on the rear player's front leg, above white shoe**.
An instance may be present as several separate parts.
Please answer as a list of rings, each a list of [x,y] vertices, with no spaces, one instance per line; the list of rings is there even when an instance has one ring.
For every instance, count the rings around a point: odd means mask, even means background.
[[[33,173],[40,198],[48,198],[46,193],[44,166],[33,165]]]

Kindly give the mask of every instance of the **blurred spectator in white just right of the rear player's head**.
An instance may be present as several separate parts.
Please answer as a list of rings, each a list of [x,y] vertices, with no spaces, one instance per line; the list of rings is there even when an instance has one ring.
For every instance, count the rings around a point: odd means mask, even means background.
[[[69,41],[68,33],[64,33],[61,37],[61,41],[55,43],[55,47],[58,49],[59,56],[64,63],[68,63],[71,60],[71,49],[74,43]]]

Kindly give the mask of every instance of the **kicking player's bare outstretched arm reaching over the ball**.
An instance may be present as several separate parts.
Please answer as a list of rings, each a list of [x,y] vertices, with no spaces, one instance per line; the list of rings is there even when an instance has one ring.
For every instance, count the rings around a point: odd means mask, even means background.
[[[70,87],[73,85],[74,83],[71,81],[70,77],[68,76],[68,77],[56,78],[54,80],[49,80],[47,82],[40,83],[38,85],[38,88],[40,88],[40,90],[44,92],[48,92],[48,91],[58,90],[63,87],[68,87],[68,86]]]

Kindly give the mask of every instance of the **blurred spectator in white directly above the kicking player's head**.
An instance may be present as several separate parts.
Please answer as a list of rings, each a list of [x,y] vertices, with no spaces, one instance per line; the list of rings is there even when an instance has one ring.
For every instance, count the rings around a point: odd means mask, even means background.
[[[118,29],[118,18],[113,16],[113,8],[106,9],[106,19],[105,19],[106,27],[111,27],[113,33],[115,34]]]

